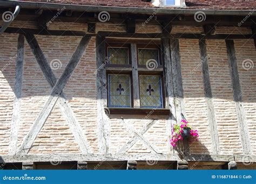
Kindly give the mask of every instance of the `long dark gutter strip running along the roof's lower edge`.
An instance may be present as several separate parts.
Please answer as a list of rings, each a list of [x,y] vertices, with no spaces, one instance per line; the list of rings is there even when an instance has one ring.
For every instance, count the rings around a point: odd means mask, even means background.
[[[15,2],[4,1],[0,2],[2,8],[10,8],[20,5],[25,9],[43,9],[57,10],[65,6],[66,10],[80,12],[101,12],[107,11],[110,13],[136,13],[144,15],[194,15],[198,11],[203,11],[206,15],[227,15],[227,16],[256,16],[256,10],[203,10],[203,9],[169,9],[169,8],[133,8],[120,6],[94,6],[94,5],[76,5],[76,4],[60,4],[60,3],[43,3],[43,2]],[[255,12],[254,12],[255,11]]]

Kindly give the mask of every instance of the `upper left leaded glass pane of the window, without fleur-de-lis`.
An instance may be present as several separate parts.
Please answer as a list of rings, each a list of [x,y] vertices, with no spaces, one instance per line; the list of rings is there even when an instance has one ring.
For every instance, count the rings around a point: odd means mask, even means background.
[[[108,58],[110,60],[110,64],[129,65],[129,49],[109,47]]]

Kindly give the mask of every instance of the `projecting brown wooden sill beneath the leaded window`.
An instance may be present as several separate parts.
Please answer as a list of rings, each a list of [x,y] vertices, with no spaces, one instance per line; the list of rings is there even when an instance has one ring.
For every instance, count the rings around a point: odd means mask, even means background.
[[[170,115],[170,109],[156,109],[156,108],[105,108],[105,111],[109,113],[110,118],[123,118],[122,115],[138,115],[136,118],[145,118],[145,116],[149,117],[163,117]],[[141,115],[141,117],[139,116]],[[127,118],[131,118],[129,116],[124,116]],[[135,117],[133,117],[135,118]],[[149,118],[150,119],[150,118]]]

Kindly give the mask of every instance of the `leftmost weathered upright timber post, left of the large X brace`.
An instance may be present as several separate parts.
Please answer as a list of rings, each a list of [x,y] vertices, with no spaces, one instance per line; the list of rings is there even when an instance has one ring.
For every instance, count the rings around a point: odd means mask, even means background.
[[[23,79],[23,60],[24,60],[24,36],[19,34],[16,58],[16,76],[14,85],[14,106],[11,117],[11,133],[9,154],[16,154],[19,123],[21,121],[21,96],[22,96],[22,79]]]

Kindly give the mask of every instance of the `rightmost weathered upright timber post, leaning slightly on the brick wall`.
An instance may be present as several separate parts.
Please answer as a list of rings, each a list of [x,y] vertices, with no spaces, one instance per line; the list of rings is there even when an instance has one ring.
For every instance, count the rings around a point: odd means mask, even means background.
[[[235,103],[235,110],[237,111],[238,127],[240,132],[240,139],[242,150],[244,154],[252,154],[248,126],[246,122],[244,104],[242,102],[242,90],[239,81],[239,73],[237,68],[237,58],[235,56],[235,48],[233,40],[225,40],[227,47],[227,59],[230,68],[230,76],[233,88],[233,97]]]

